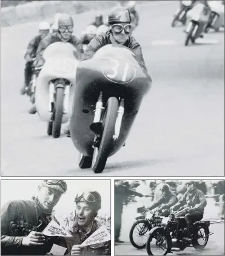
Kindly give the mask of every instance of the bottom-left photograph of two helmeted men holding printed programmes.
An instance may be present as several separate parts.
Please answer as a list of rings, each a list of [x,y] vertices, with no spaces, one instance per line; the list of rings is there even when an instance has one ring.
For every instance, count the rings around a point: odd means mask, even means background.
[[[2,180],[1,255],[111,255],[111,181]]]

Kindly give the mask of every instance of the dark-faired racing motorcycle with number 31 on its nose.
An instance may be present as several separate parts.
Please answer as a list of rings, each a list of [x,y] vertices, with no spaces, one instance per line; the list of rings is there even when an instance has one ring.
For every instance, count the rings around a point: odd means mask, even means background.
[[[124,145],[152,83],[139,63],[129,48],[109,44],[78,64],[70,136],[80,168],[101,173]]]

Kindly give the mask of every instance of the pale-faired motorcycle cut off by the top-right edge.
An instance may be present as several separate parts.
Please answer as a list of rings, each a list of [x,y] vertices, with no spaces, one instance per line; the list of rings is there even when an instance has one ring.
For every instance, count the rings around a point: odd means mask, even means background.
[[[224,5],[221,2],[210,1],[209,6],[211,13],[204,32],[208,33],[210,29],[218,32],[220,27],[224,27]]]

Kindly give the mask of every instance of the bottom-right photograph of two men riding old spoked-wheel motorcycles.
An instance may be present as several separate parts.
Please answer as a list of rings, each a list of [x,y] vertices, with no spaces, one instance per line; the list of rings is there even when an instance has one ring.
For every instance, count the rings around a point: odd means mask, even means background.
[[[224,180],[115,180],[115,255],[224,255]]]

